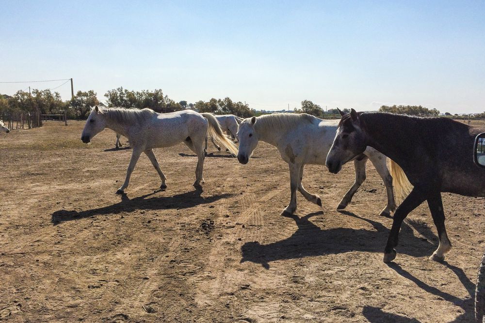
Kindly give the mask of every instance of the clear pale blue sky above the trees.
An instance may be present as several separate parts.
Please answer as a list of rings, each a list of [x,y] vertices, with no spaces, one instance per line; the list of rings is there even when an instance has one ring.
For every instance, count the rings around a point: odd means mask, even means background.
[[[0,82],[251,108],[485,110],[485,1],[3,1]],[[0,84],[13,94],[29,85]],[[65,99],[68,84],[59,87]]]

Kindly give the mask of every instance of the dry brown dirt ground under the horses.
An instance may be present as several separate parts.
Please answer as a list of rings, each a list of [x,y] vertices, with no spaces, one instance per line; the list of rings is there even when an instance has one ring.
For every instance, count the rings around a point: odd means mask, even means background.
[[[437,246],[429,209],[405,220],[394,263],[382,262],[392,219],[372,166],[344,212],[353,165],[307,166],[298,195],[260,143],[247,165],[205,160],[183,144],[158,149],[168,188],[142,156],[126,196],[130,149],[105,130],[81,142],[83,122],[48,122],[0,137],[0,320],[7,322],[471,322],[485,247],[484,200],[443,194],[454,246]],[[126,139],[123,140],[126,142]],[[213,148],[210,148],[213,151]]]

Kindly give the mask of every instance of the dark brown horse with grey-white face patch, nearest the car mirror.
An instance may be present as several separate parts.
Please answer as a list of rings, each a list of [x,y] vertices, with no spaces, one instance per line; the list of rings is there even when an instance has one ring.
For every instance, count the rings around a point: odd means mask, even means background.
[[[342,117],[326,159],[330,172],[338,173],[343,164],[370,146],[393,161],[391,174],[397,188],[405,185],[406,176],[414,186],[394,213],[384,250],[385,262],[396,257],[394,247],[398,245],[404,218],[425,200],[439,237],[439,246],[430,259],[444,260],[451,244],[445,229],[441,192],[485,196],[485,172],[471,158],[475,137],[483,131],[447,118],[357,113],[354,109]]]

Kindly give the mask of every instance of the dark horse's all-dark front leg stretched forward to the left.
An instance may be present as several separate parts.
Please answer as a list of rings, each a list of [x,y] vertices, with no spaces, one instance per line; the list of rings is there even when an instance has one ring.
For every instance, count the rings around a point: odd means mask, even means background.
[[[384,262],[393,261],[396,258],[396,250],[394,250],[394,247],[397,246],[399,241],[401,225],[409,212],[416,209],[426,198],[426,195],[421,190],[414,187],[401,205],[398,206],[396,212],[394,212],[388,243],[386,249],[384,249]]]

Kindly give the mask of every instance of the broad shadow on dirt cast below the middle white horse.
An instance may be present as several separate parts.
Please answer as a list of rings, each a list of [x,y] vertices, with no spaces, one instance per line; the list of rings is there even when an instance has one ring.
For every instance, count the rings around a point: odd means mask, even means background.
[[[298,226],[291,237],[267,245],[262,245],[258,241],[245,243],[241,247],[241,262],[260,263],[264,268],[269,269],[269,263],[277,260],[352,251],[383,252],[389,234],[388,228],[379,222],[360,217],[352,212],[339,212],[370,223],[375,231],[351,228],[322,229],[310,221],[312,216],[323,215],[322,211],[310,213],[301,218],[291,215],[287,217],[293,219]],[[437,241],[436,236],[429,228],[422,227],[420,230],[428,230],[429,232],[424,232],[425,235],[423,235],[429,238],[416,237],[411,227],[406,222],[403,223],[398,253],[423,257],[433,252],[436,245],[431,241]]]

